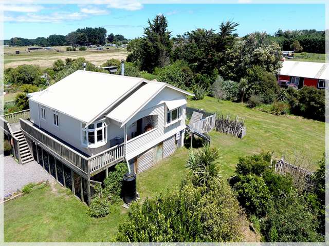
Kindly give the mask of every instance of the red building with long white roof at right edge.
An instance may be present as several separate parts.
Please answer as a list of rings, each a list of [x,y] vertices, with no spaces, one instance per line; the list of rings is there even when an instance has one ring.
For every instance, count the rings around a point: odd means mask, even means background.
[[[303,86],[327,89],[329,88],[329,64],[310,63],[308,61],[283,61],[278,83],[285,86],[294,86],[298,89]]]

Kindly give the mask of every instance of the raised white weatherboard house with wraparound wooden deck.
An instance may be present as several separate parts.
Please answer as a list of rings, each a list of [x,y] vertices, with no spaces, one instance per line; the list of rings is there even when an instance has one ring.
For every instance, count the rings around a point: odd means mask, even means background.
[[[90,202],[120,161],[140,173],[184,145],[187,95],[158,81],[78,70],[28,94],[21,129],[35,160]]]

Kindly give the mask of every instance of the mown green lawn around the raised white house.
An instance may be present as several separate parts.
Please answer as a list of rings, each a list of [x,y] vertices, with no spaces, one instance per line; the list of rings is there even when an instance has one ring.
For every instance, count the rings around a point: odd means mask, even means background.
[[[230,112],[246,119],[247,136],[243,139],[211,132],[211,144],[221,148],[223,176],[234,172],[239,156],[264,151],[293,155],[305,153],[316,160],[324,152],[324,122],[300,117],[276,116],[249,109],[243,104],[206,97],[189,101],[188,106],[207,111]],[[171,157],[138,175],[141,200],[154,197],[180,183],[186,173],[188,149],[181,148]],[[112,214],[100,219],[89,218],[86,206],[59,185],[36,189],[32,193],[5,203],[5,241],[109,241],[118,224],[127,217],[120,204]],[[70,192],[69,192],[70,193]]]

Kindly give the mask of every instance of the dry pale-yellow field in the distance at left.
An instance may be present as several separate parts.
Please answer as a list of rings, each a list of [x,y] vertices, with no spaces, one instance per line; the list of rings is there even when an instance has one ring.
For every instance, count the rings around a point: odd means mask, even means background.
[[[108,50],[87,49],[86,51],[66,51],[66,46],[52,47],[54,50],[34,50],[27,51],[27,46],[24,47],[4,47],[4,64],[6,68],[15,68],[19,65],[29,64],[38,65],[41,68],[50,67],[57,59],[85,57],[96,66],[101,65],[106,60],[125,59],[127,51],[124,48],[109,47]],[[56,50],[59,50],[57,52]],[[15,54],[15,51],[20,51],[20,54]]]

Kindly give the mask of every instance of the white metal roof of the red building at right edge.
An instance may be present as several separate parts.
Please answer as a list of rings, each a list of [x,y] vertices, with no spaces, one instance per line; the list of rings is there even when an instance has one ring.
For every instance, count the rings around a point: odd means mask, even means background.
[[[282,63],[280,74],[304,78],[329,79],[329,64],[286,60]]]

